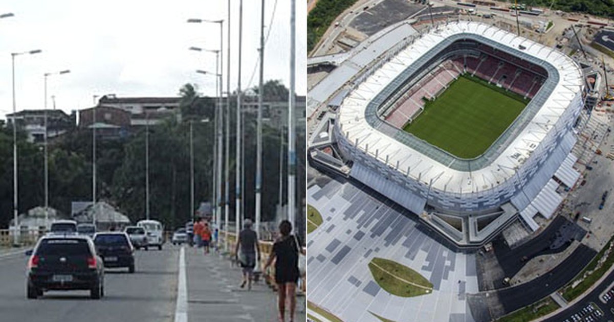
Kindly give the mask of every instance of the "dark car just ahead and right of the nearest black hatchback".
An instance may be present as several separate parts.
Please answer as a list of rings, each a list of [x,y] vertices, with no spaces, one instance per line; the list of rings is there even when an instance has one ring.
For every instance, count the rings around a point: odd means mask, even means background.
[[[104,267],[128,267],[134,273],[134,247],[125,232],[96,232],[94,245]]]

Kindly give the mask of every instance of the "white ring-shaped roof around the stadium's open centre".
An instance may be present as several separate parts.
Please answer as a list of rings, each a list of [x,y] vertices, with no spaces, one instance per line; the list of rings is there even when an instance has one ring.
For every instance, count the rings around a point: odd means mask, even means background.
[[[459,171],[442,164],[392,136],[373,128],[365,118],[365,110],[371,99],[380,93],[403,70],[435,45],[456,34],[470,33],[492,40],[503,47],[523,52],[547,61],[559,73],[550,96],[515,139],[487,166],[474,171]],[[522,47],[520,47],[522,46]],[[507,178],[526,161],[532,151],[553,129],[553,126],[569,107],[577,93],[582,90],[583,79],[580,67],[569,57],[532,40],[518,37],[494,26],[478,22],[459,21],[441,25],[423,34],[413,44],[401,50],[393,59],[382,64],[375,72],[356,86],[343,101],[338,111],[338,126],[347,140],[360,150],[368,150],[372,156],[395,167],[403,175],[409,175],[442,191],[475,193],[488,190]],[[408,173],[409,171],[409,173]]]

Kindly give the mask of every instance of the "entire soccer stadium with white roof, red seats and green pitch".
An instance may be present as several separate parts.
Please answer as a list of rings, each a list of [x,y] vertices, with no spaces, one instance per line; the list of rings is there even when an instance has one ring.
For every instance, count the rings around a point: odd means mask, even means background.
[[[572,168],[583,75],[571,58],[484,23],[400,41],[355,77],[332,133],[349,176],[459,247],[550,218]]]

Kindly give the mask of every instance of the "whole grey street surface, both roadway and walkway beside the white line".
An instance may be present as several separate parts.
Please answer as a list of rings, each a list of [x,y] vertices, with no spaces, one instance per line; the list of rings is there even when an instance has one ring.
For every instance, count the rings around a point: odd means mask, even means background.
[[[187,321],[276,321],[276,294],[263,282],[240,289],[238,267],[217,254],[181,247],[136,251],[136,272],[107,269],[104,297],[88,291],[50,291],[36,300],[25,296],[25,255],[0,258],[0,321],[174,321],[177,280],[185,267]],[[179,297],[181,299],[181,297]],[[181,300],[180,300],[181,301]],[[298,297],[296,321],[305,320],[305,297]]]

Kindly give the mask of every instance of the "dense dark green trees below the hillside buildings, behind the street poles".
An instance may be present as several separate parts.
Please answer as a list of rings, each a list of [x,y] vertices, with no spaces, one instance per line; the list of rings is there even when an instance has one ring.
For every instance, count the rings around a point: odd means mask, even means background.
[[[268,82],[267,93],[284,93],[279,82]],[[184,89],[186,87],[184,86]],[[181,91],[184,95],[198,96]],[[253,91],[252,91],[253,93]],[[277,97],[278,100],[287,99]],[[272,95],[269,97],[273,98]],[[185,104],[198,100],[186,99]],[[235,115],[236,99],[231,97],[231,147],[230,147],[230,210],[235,209]],[[200,104],[200,103],[199,103]],[[188,120],[212,117],[212,104],[207,99],[197,108],[181,105],[184,120],[170,117],[161,125],[149,127],[149,181],[151,217],[173,228],[190,218],[190,146]],[[255,115],[246,114],[245,120],[245,214],[254,217],[255,197]],[[213,169],[213,122],[193,122],[193,146],[195,160],[195,207],[200,202],[211,201]],[[98,139],[96,142],[96,191],[98,200],[114,205],[134,222],[145,216],[145,128],[133,129],[123,139]],[[273,220],[279,199],[279,151],[280,129],[263,125],[263,188],[262,218]],[[285,137],[284,137],[285,139]],[[297,151],[305,151],[305,136],[297,134]],[[50,142],[49,146],[49,205],[70,215],[71,202],[90,201],[92,188],[91,164],[92,136],[87,129],[75,128]],[[0,228],[6,228],[13,214],[13,163],[12,131],[0,129]],[[44,205],[44,158],[40,145],[26,142],[25,135],[18,140],[19,205],[20,213]],[[286,153],[284,149],[284,160]],[[297,171],[305,173],[305,153],[297,153]],[[284,167],[284,170],[286,167]],[[287,176],[284,171],[284,184]],[[301,175],[297,187],[305,186]],[[305,192],[297,189],[297,201]],[[222,187],[223,191],[223,187]],[[286,194],[283,195],[287,199]],[[300,205],[300,202],[297,202]],[[304,217],[303,217],[304,218]],[[297,220],[300,220],[298,217]]]

